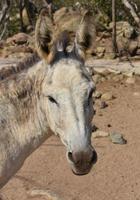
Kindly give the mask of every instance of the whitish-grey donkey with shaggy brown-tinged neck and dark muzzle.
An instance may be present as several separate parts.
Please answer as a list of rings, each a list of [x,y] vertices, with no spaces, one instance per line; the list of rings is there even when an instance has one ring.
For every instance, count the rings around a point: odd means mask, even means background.
[[[75,174],[89,173],[97,161],[91,145],[95,85],[84,66],[93,22],[86,12],[72,48],[66,31],[53,39],[51,23],[43,9],[35,30],[42,60],[0,81],[0,187],[53,133]]]

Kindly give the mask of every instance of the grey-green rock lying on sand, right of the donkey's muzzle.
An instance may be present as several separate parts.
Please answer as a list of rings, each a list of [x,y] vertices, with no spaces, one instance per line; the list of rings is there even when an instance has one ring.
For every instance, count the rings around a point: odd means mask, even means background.
[[[126,144],[127,143],[127,141],[123,138],[123,135],[120,133],[116,133],[116,132],[110,133],[109,137],[114,144]]]

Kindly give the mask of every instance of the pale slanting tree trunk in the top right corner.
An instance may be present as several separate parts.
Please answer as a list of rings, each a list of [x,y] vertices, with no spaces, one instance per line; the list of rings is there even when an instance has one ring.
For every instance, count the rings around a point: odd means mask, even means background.
[[[138,17],[137,13],[135,12],[133,6],[129,3],[128,0],[122,0],[125,7],[127,7],[134,18],[135,22],[137,23],[138,27],[140,28],[140,18]]]

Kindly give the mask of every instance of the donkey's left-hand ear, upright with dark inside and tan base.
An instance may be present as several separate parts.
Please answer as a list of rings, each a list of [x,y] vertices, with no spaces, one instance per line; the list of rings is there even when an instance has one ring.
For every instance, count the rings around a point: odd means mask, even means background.
[[[55,53],[50,52],[50,45],[53,35],[53,22],[49,17],[47,8],[43,8],[40,12],[39,18],[35,27],[35,41],[38,54],[46,59],[48,63],[51,62]]]

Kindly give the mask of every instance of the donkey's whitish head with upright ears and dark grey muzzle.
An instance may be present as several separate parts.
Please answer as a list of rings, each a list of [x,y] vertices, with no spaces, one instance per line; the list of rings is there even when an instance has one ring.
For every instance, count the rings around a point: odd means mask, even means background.
[[[86,12],[71,51],[66,31],[53,39],[52,22],[42,10],[36,25],[38,53],[46,63],[43,104],[51,130],[67,148],[67,159],[77,175],[87,174],[97,154],[91,145],[93,118],[92,78],[84,66],[85,50],[94,37],[94,24]]]

